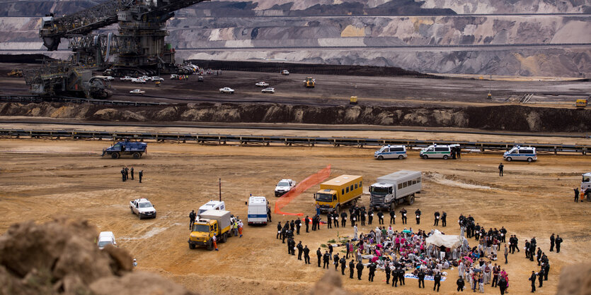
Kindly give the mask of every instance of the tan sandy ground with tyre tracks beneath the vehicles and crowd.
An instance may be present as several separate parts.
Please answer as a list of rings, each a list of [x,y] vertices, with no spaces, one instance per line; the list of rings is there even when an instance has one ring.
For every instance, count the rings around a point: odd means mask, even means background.
[[[188,289],[216,294],[299,294],[323,275],[316,267],[304,265],[288,256],[285,244],[273,239],[275,223],[267,227],[246,227],[243,238],[231,238],[219,245],[219,252],[188,248],[188,213],[218,195],[217,181],[222,179],[222,198],[235,215],[246,217],[248,195],[265,195],[274,205],[275,184],[289,177],[302,181],[310,174],[332,165],[331,176],[359,174],[366,186],[377,177],[398,169],[423,171],[424,190],[413,212],[423,211],[423,222],[408,227],[432,229],[433,212],[445,210],[449,226],[437,227],[447,234],[459,234],[457,217],[471,214],[488,227],[504,226],[517,234],[520,247],[524,239],[536,236],[539,246],[549,255],[549,281],[539,289],[556,294],[558,272],[564,265],[589,261],[587,251],[590,203],[573,203],[573,188],[580,174],[590,170],[583,156],[540,155],[534,163],[505,163],[505,176],[498,176],[500,154],[464,155],[461,160],[423,160],[417,152],[408,159],[376,161],[374,150],[359,148],[239,147],[196,144],[150,143],[149,152],[134,160],[101,158],[103,141],[0,140],[0,233],[10,224],[35,219],[44,222],[67,215],[86,218],[101,231],[113,231],[120,247],[137,258],[139,268],[159,272]],[[122,182],[123,165],[144,170],[144,183]],[[291,204],[286,212],[312,214],[314,186]],[[156,219],[139,220],[130,213],[132,198],[149,198],[158,210]],[[369,203],[364,195],[362,203]],[[273,222],[292,219],[273,216]],[[387,219],[386,219],[387,222]],[[349,225],[349,224],[348,224]],[[394,229],[401,230],[398,224]],[[361,227],[367,232],[369,227]],[[563,239],[561,253],[549,252],[550,234]],[[352,235],[352,229],[322,229],[302,233],[296,241],[315,250],[338,235]],[[471,245],[474,240],[470,240]],[[314,253],[314,251],[311,251]],[[503,265],[510,274],[510,294],[529,292],[528,274],[537,265],[524,258],[524,252],[510,255]],[[334,270],[330,270],[334,271]],[[377,272],[373,283],[344,278],[344,287],[363,294],[425,294],[417,281],[406,279],[405,287],[393,289]],[[455,290],[457,270],[449,271],[441,292]],[[498,289],[485,287],[486,293]],[[427,291],[425,291],[427,290]]]

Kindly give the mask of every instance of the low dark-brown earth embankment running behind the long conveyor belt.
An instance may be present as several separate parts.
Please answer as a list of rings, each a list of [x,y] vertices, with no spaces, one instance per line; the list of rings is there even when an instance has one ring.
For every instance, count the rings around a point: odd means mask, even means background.
[[[311,107],[282,104],[178,104],[105,107],[91,104],[6,102],[0,116],[78,121],[369,124],[479,128],[498,131],[588,132],[591,110],[498,106],[465,108]]]

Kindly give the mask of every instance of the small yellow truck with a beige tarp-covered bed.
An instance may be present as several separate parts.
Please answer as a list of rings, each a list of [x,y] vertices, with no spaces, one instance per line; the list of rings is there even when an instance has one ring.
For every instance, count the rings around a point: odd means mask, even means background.
[[[193,229],[189,236],[189,248],[206,246],[207,250],[214,249],[213,236],[216,236],[217,243],[225,243],[231,236],[232,217],[226,210],[207,210],[202,212],[195,220]]]

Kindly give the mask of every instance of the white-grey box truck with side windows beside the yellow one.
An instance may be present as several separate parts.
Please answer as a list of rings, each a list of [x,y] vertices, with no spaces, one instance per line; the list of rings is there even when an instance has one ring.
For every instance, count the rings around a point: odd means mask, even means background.
[[[403,202],[415,203],[415,193],[420,193],[420,171],[401,170],[381,176],[369,186],[369,200],[376,209],[394,210]]]

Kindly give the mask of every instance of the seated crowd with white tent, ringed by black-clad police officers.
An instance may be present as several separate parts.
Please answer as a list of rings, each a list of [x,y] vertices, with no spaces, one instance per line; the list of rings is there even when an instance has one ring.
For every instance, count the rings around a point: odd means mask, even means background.
[[[408,211],[402,208],[399,212],[403,225],[406,225]],[[376,271],[384,271],[386,284],[391,284],[392,287],[398,287],[398,284],[405,285],[404,278],[406,276],[418,279],[419,287],[424,288],[425,277],[428,277],[434,282],[433,290],[439,291],[440,282],[447,277],[449,270],[457,267],[459,276],[456,281],[457,291],[469,288],[474,292],[484,292],[484,287],[490,284],[490,287],[498,287],[500,294],[505,294],[509,288],[509,274],[500,264],[509,263],[508,255],[515,253],[515,250],[520,251],[516,235],[510,235],[510,239],[507,241],[505,227],[488,227],[487,230],[487,227],[476,222],[471,215],[466,217],[461,214],[458,218],[461,245],[455,248],[446,248],[426,242],[426,239],[433,234],[442,234],[437,229],[430,231],[415,230],[412,227],[403,227],[401,231],[394,229],[393,225],[396,226],[396,212],[394,210],[389,212],[390,224],[388,226],[382,225],[384,224],[384,214],[381,211],[374,212],[371,207],[369,210],[365,210],[365,207],[354,206],[350,208],[349,214],[341,212],[339,215],[330,212],[327,214],[326,222],[322,220],[320,212],[316,213],[312,218],[309,216],[304,218],[306,233],[309,232],[309,224],[312,224],[312,231],[320,230],[321,224],[325,224],[327,229],[331,229],[333,227],[347,227],[350,222],[350,227],[352,227],[350,239],[342,239],[334,244],[328,243],[324,251],[322,248],[317,249],[318,267],[328,269],[332,264],[335,270],[338,270],[340,266],[342,275],[345,275],[346,268],[349,268],[350,279],[354,278],[355,272],[357,272],[357,279],[362,279],[362,273],[367,269],[369,282],[374,281]],[[377,227],[370,229],[367,233],[360,233],[357,226],[372,225],[374,215],[378,217]],[[421,212],[419,209],[415,210],[415,217],[416,224],[420,224]],[[447,227],[446,212],[435,212],[434,217],[433,227],[439,227],[440,222],[442,228]],[[304,246],[302,241],[296,245],[294,240],[294,235],[300,234],[300,227],[302,227],[300,219],[294,219],[284,225],[278,222],[276,238],[281,239],[283,243],[287,239],[287,253],[289,255],[296,255],[295,251],[297,250],[298,260],[302,260],[303,255],[304,263],[311,264],[310,248],[307,245]],[[469,239],[475,240],[475,246],[469,245]],[[562,239],[559,236],[554,238],[552,235],[551,251],[556,244],[558,252],[561,242]],[[340,247],[344,248],[342,256],[335,253],[338,252],[335,251],[335,248]],[[535,238],[526,242],[526,257],[532,261],[534,261],[533,257],[536,257],[540,266],[538,272],[532,273],[539,278],[539,287],[541,287],[543,280],[547,279],[550,264],[545,253],[540,248],[537,248],[537,252],[535,249]],[[498,258],[501,253],[504,261]],[[351,260],[348,262],[350,258]],[[391,282],[390,279],[392,279]],[[535,278],[532,282],[534,281]],[[532,291],[534,291],[533,283]]]

